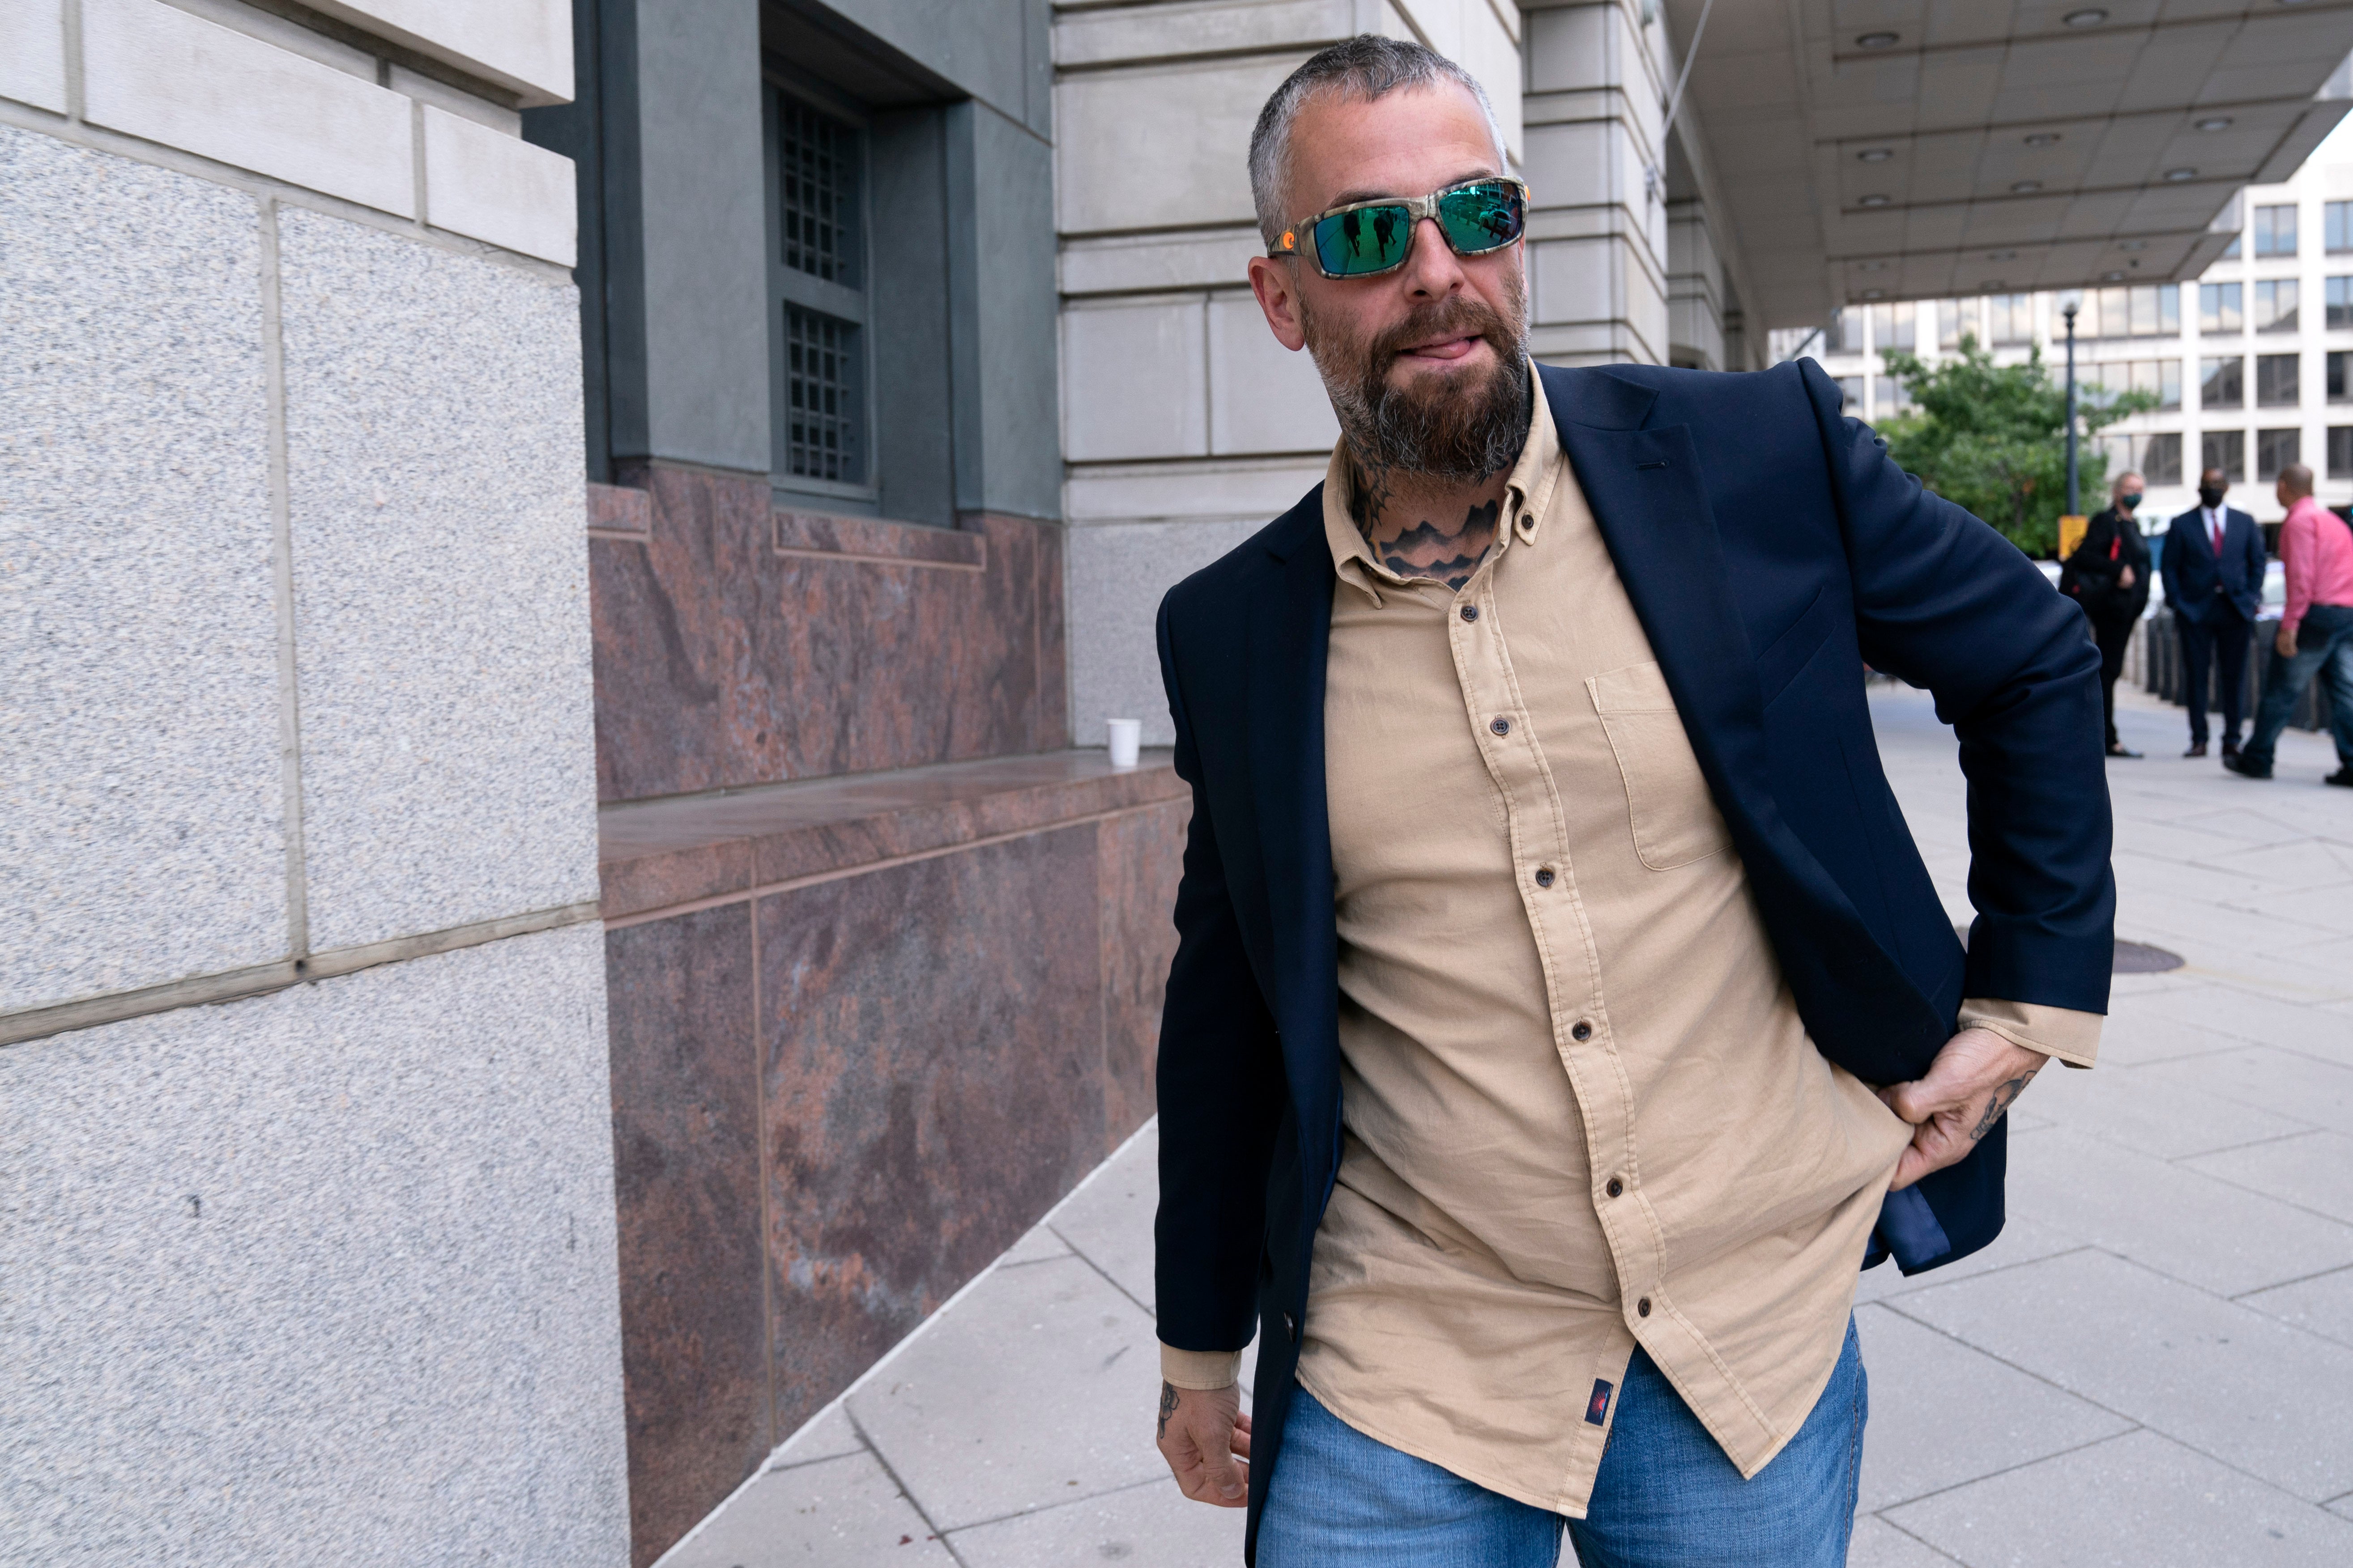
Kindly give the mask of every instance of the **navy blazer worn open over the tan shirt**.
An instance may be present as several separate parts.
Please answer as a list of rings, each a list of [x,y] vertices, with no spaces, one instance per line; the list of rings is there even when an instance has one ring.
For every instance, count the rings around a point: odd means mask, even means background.
[[[1544,369],[1560,444],[1666,672],[1814,1044],[1915,1079],[1960,999],[2104,1013],[2113,959],[2099,654],[2000,534],[1920,489],[1812,360]],[[1325,816],[1322,487],[1160,604],[1193,825],[1160,1023],[1160,1338],[1259,1333],[1247,1549],[1282,1443],[1339,1168]],[[1969,776],[1967,954],[1913,849],[1864,663],[1937,693]],[[1906,1272],[2002,1227],[2002,1126],[1892,1194]]]

